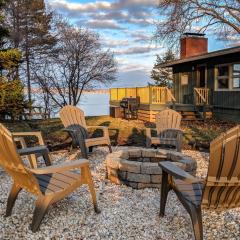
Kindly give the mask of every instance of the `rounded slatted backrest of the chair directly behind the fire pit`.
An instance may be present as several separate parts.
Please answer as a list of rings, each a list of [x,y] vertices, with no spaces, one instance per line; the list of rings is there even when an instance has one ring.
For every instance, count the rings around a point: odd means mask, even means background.
[[[182,116],[172,109],[166,109],[156,114],[157,133],[166,129],[180,129]]]

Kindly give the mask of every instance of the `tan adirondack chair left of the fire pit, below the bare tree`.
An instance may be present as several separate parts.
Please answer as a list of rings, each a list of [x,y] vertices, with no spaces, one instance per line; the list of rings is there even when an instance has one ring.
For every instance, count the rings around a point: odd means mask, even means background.
[[[75,107],[67,105],[63,107],[59,113],[61,121],[68,131],[76,145],[81,148],[82,154],[87,158],[86,148],[93,146],[106,145],[112,152],[111,142],[108,134],[108,128],[104,126],[87,126],[84,112]],[[88,129],[102,129],[103,136],[97,138],[89,138]]]

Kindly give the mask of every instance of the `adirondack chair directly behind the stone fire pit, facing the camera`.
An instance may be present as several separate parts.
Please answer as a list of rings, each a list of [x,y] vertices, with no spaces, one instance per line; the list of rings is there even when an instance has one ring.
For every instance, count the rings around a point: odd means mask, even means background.
[[[172,110],[166,109],[156,114],[157,137],[152,137],[152,128],[146,129],[146,146],[167,144],[176,147],[181,152],[182,131],[180,130],[182,116]]]

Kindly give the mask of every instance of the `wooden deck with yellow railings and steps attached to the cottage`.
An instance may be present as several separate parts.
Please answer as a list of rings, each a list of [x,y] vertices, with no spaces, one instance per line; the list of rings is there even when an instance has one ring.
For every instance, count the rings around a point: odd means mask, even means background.
[[[193,104],[177,103],[170,89],[166,87],[112,88],[110,89],[110,113],[112,117],[121,117],[120,101],[127,97],[140,97],[138,119],[155,122],[156,114],[166,108],[172,108],[181,113],[183,121],[203,120],[211,118],[208,90],[196,89]],[[205,106],[207,105],[207,107]],[[205,114],[203,114],[205,108]]]

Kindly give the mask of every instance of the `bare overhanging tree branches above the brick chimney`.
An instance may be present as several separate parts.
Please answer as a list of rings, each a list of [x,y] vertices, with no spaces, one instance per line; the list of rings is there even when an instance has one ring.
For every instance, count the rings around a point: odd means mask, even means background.
[[[221,40],[240,34],[239,0],[160,0],[156,38],[175,45],[187,31],[212,31]]]

